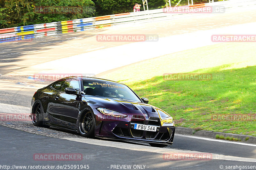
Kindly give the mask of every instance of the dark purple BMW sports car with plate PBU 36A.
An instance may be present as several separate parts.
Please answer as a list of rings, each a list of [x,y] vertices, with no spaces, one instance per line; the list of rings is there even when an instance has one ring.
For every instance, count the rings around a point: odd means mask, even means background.
[[[163,147],[172,144],[172,117],[128,86],[115,81],[62,78],[37,90],[31,102],[35,126],[54,126],[100,137],[147,142]]]

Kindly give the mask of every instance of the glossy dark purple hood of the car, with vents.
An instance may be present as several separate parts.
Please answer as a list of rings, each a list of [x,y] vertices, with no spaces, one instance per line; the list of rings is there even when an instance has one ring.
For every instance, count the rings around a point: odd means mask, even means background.
[[[85,99],[87,102],[95,102],[94,108],[104,107],[111,109],[117,112],[126,113],[126,114],[149,114],[154,116],[160,116],[161,119],[169,117],[170,115],[164,112],[162,109],[136,101],[127,101],[123,99],[103,97],[103,96],[89,96],[86,95]]]

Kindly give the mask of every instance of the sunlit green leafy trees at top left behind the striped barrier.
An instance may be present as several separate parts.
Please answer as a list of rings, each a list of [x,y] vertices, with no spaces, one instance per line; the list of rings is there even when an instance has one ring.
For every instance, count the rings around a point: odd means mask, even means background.
[[[94,13],[91,0],[0,0],[0,28],[88,18]]]

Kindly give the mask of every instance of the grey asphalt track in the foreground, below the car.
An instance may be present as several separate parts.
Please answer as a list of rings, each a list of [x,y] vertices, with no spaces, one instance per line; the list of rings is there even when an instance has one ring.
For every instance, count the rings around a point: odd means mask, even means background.
[[[41,136],[28,133],[5,126],[1,129],[1,165],[12,166],[13,163],[19,166],[30,165],[89,165],[90,169],[111,169],[111,165],[145,165],[145,169],[220,169],[223,166],[253,166],[255,158],[255,145],[229,144],[222,142],[211,142],[207,140],[198,140],[186,136],[175,136],[176,144],[166,148],[154,148],[143,144],[111,142],[98,139],[86,139],[80,136],[73,138],[81,140],[97,140],[98,143],[88,144],[72,141],[56,137]],[[63,132],[62,132],[63,133]],[[67,134],[69,136],[69,134]],[[60,136],[59,136],[60,137]],[[70,141],[71,140],[71,141]],[[177,142],[182,141],[182,142]],[[94,143],[94,141],[92,141]],[[109,147],[115,145],[115,147]],[[115,144],[116,143],[116,144]],[[105,146],[107,145],[107,146]],[[22,147],[21,147],[22,146]],[[208,152],[212,156],[209,160],[169,160],[164,159],[163,153],[198,153],[196,151]],[[177,150],[176,150],[177,149]],[[165,151],[161,151],[165,150]],[[35,153],[82,153],[81,161],[35,161],[33,154]],[[218,154],[215,159],[213,154]],[[232,156],[230,158],[223,155]],[[6,157],[8,155],[8,157]],[[26,156],[24,156],[26,155]],[[244,158],[237,158],[244,157]],[[239,161],[227,160],[237,159]],[[252,161],[252,162],[251,162]],[[113,169],[113,168],[112,168]],[[133,169],[133,168],[132,168]]]

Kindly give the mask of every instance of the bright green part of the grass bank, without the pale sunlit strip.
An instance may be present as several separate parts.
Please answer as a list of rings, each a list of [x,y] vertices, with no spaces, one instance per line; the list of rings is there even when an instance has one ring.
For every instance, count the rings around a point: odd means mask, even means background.
[[[256,136],[255,120],[212,120],[216,114],[255,114],[255,72],[256,66],[208,72],[225,75],[224,80],[211,81],[164,81],[158,76],[132,86],[172,115],[176,126]]]

